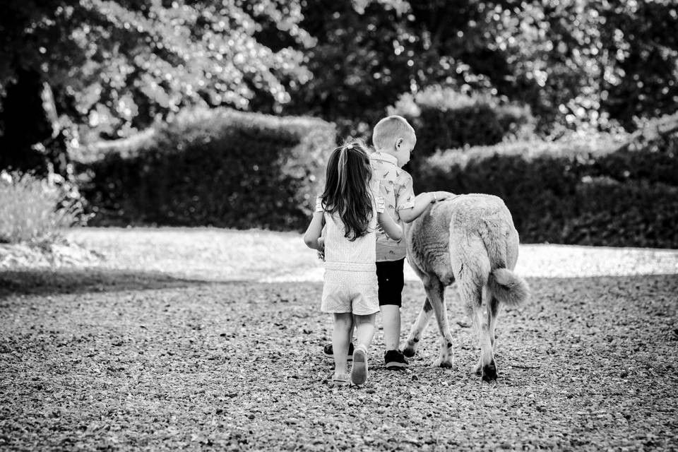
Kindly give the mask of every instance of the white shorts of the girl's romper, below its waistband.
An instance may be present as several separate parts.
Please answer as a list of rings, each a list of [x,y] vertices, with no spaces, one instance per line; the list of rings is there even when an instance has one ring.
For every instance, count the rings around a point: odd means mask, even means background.
[[[376,272],[325,270],[321,311],[352,312],[367,316],[379,312]]]

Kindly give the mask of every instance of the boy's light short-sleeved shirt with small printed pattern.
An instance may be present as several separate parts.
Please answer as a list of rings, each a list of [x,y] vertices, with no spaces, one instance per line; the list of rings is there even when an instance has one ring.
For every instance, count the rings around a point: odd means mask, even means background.
[[[369,163],[372,167],[372,181],[379,183],[379,191],[383,197],[386,212],[393,220],[400,222],[400,210],[415,207],[412,176],[398,167],[398,159],[391,154],[371,153]],[[383,232],[377,233],[377,262],[398,261],[405,258],[405,254],[407,254],[405,237],[393,240]]]

